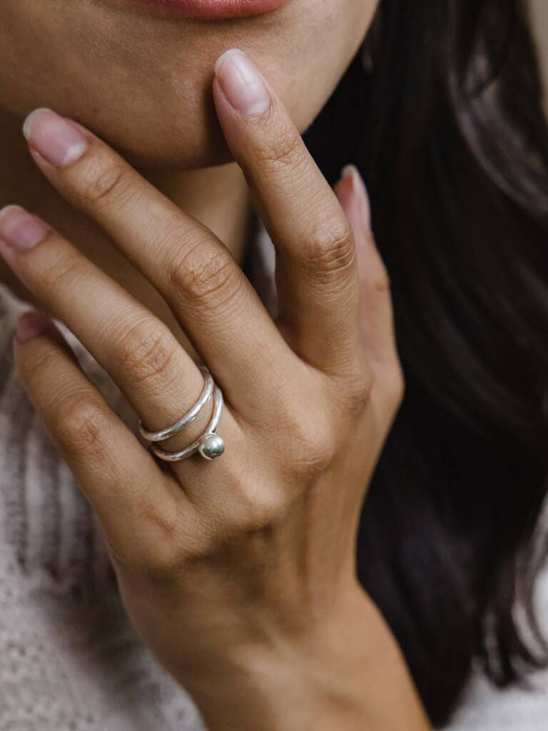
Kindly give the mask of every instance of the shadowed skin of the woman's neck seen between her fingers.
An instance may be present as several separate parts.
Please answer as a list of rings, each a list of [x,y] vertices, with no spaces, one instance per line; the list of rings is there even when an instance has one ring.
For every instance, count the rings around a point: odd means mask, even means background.
[[[158,292],[118,254],[113,243],[89,219],[69,206],[39,173],[23,140],[20,119],[2,112],[0,159],[0,207],[18,203],[45,219],[105,273],[122,284],[164,322],[175,327],[172,315]],[[246,181],[237,164],[142,174],[186,213],[208,226],[235,259],[241,261],[249,199]],[[7,284],[18,297],[40,306],[3,261],[0,261],[0,281]]]

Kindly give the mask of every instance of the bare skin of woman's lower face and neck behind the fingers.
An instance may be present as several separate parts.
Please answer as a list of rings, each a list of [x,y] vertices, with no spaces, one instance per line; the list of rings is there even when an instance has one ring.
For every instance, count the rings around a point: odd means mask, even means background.
[[[18,202],[47,216],[192,350],[145,277],[37,173],[20,135],[24,115],[46,106],[88,126],[239,260],[248,189],[237,165],[219,165],[232,158],[213,108],[214,61],[231,46],[247,50],[303,132],[338,83],[375,9],[376,0],[292,0],[269,15],[199,23],[126,12],[118,0],[3,0],[0,205]],[[0,280],[39,304],[3,262]]]

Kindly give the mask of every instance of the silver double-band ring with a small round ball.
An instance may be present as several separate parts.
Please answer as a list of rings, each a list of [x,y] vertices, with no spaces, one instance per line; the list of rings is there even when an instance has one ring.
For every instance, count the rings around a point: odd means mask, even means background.
[[[191,457],[191,455],[196,454],[196,452],[198,452],[204,459],[211,461],[220,457],[224,453],[224,439],[215,433],[223,412],[223,393],[218,385],[216,385],[213,381],[213,376],[210,374],[210,371],[206,366],[199,366],[199,370],[202,371],[202,374],[204,375],[204,387],[202,388],[202,393],[199,395],[194,406],[192,406],[186,414],[180,417],[175,424],[161,429],[160,431],[149,431],[141,421],[139,422],[139,431],[141,436],[148,442],[151,442],[151,450],[157,457],[164,461],[178,462]],[[178,452],[168,452],[155,444],[155,442],[161,442],[164,439],[169,439],[170,436],[175,436],[175,434],[178,434],[192,421],[194,421],[199,412],[201,412],[204,408],[205,404],[208,403],[212,394],[213,415],[210,418],[204,433],[202,433],[202,436],[200,436],[199,439]]]

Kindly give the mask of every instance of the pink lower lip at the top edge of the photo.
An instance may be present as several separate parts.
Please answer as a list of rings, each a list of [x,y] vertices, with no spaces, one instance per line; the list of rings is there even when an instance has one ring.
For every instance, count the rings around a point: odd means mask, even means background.
[[[126,0],[142,10],[178,18],[224,20],[273,12],[289,0]]]

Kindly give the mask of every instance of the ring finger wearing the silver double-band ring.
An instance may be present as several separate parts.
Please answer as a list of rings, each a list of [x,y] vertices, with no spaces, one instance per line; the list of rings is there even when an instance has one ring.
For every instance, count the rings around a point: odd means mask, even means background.
[[[0,213],[0,253],[110,373],[147,428],[175,423],[194,404],[203,376],[169,327],[69,241],[23,208],[9,206]],[[161,446],[177,450],[192,442],[210,412],[208,404]],[[235,428],[225,409],[223,436]]]

